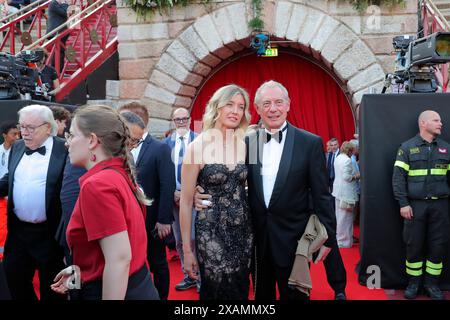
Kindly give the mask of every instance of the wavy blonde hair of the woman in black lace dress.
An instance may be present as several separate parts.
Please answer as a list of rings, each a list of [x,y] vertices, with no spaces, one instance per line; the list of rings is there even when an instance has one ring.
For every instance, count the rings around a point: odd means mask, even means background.
[[[219,109],[224,107],[231,99],[233,99],[234,96],[238,94],[242,95],[242,97],[244,98],[245,106],[244,116],[242,117],[241,123],[239,124],[238,128],[236,128],[236,130],[241,129],[239,131],[245,133],[248,125],[250,124],[250,99],[248,97],[247,91],[235,84],[229,84],[218,89],[216,92],[214,92],[211,99],[209,99],[208,104],[206,105],[205,113],[203,115],[203,131],[214,128],[217,119],[219,119]]]

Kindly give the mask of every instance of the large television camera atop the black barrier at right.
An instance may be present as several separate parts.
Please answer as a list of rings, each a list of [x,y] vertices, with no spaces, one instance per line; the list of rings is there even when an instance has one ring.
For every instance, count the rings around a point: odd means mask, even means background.
[[[391,86],[398,93],[436,92],[436,65],[450,61],[450,33],[436,32],[420,39],[397,36],[392,45],[397,52],[395,71],[386,75],[382,93]]]

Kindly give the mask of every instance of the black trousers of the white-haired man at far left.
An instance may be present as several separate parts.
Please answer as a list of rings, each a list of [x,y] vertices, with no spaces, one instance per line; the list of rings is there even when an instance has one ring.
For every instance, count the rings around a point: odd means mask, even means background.
[[[55,276],[64,268],[64,263],[62,250],[46,222],[14,222],[6,239],[3,266],[13,300],[37,300],[33,288],[36,269],[39,273],[40,299],[65,299],[64,295],[50,288]]]

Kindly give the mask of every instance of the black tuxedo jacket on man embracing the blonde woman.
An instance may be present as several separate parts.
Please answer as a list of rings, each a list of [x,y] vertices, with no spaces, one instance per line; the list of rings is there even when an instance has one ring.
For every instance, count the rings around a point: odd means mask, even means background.
[[[328,191],[322,139],[288,124],[283,154],[267,208],[261,176],[264,148],[264,139],[258,138],[261,132],[264,133],[264,130],[246,138],[249,205],[257,253],[262,254],[270,242],[275,264],[290,267],[294,262],[297,241],[303,235],[311,215],[309,193],[315,214],[328,232],[325,245],[331,247],[336,241],[336,216]]]

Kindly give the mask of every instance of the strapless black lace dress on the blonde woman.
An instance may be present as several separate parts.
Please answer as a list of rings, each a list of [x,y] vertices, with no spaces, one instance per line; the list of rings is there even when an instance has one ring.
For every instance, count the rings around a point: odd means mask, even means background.
[[[197,213],[195,240],[200,269],[200,300],[246,300],[253,232],[245,181],[247,166],[229,170],[207,164],[198,182],[212,195],[212,206]]]

